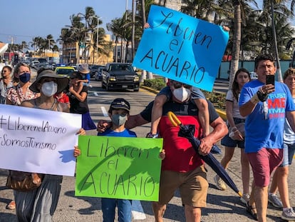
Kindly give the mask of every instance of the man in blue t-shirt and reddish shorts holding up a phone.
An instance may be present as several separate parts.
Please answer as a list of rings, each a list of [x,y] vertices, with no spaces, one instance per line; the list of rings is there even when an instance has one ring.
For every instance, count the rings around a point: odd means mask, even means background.
[[[247,116],[245,152],[254,176],[247,211],[258,221],[266,221],[270,176],[283,158],[285,118],[295,129],[295,105],[285,84],[278,81],[266,84],[266,76],[276,73],[272,56],[257,56],[255,71],[258,79],[244,85],[239,97],[239,112]]]

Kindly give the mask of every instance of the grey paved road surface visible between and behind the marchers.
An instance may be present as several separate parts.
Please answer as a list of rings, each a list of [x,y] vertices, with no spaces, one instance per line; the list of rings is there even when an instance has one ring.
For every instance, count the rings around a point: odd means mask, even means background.
[[[110,101],[118,96],[123,96],[131,104],[131,114],[138,113],[141,111],[149,101],[155,96],[148,91],[140,89],[138,93],[133,92],[106,92],[99,86],[100,83],[93,82],[93,88],[89,94],[90,113],[92,114],[93,120],[97,121],[101,118],[108,118],[103,116],[105,110],[108,110]],[[145,136],[148,132],[149,126],[141,126],[135,129],[138,136]],[[95,131],[88,132],[91,135],[95,135]],[[223,151],[223,147],[222,151]],[[216,156],[217,159],[221,159],[222,156]],[[239,164],[239,149],[234,153],[234,158],[229,165],[229,175],[233,178],[239,188],[242,188],[241,182],[241,168]],[[227,191],[219,191],[214,186],[214,172],[212,169],[207,167],[207,179],[209,181],[209,192],[207,196],[207,208],[202,211],[202,221],[253,221],[252,218],[247,214],[243,204],[239,201],[239,197],[234,191],[229,188]],[[294,194],[294,165],[290,169],[289,186],[290,186],[290,197],[291,205],[295,206]],[[5,188],[6,181],[5,170],[0,170],[0,222],[15,222],[15,212],[6,210],[5,206],[13,194],[11,190]],[[74,196],[74,184],[75,178],[65,176],[63,178],[61,197],[58,202],[56,213],[53,216],[54,222],[84,222],[84,221],[102,221],[102,212],[100,206],[100,198],[89,198],[89,197],[75,197]],[[152,216],[152,208],[150,202],[141,201],[141,207],[143,213],[136,213],[135,217],[137,220],[133,221],[154,221]],[[140,206],[136,207],[138,211]],[[279,218],[281,211],[269,206],[268,209],[268,221],[281,221]],[[139,219],[143,218],[143,219]],[[167,206],[164,221],[185,221],[183,208],[180,201],[179,193],[175,193],[175,197],[172,198],[170,204]]]

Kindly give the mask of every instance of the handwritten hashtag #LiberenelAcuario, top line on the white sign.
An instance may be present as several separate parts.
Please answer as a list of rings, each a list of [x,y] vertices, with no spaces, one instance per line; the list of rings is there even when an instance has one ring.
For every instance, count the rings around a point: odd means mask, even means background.
[[[65,134],[65,127],[51,126],[48,121],[42,121],[41,124],[28,124],[21,123],[21,118],[16,120],[11,119],[11,116],[6,118],[1,115],[0,118],[0,129],[6,129],[9,131],[34,131],[34,132],[43,132],[43,133],[56,133],[56,134]]]

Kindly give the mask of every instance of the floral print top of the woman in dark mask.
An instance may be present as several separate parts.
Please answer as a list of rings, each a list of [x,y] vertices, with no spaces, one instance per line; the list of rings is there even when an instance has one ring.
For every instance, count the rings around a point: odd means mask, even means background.
[[[20,106],[22,101],[35,99],[39,96],[38,93],[31,91],[28,87],[26,94],[21,89],[20,84],[8,89],[6,99],[9,99],[13,105]]]

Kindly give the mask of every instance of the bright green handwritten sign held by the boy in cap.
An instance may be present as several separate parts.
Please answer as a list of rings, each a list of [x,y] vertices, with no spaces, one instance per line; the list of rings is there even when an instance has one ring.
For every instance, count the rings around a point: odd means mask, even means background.
[[[161,138],[79,136],[76,196],[157,201]]]

